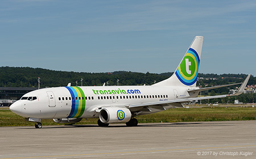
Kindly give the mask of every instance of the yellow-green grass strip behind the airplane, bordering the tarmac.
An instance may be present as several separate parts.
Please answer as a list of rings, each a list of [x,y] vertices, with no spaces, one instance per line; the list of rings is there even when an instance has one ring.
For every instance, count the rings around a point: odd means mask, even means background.
[[[215,107],[215,108],[175,108],[159,113],[137,116],[139,123],[160,122],[200,122],[200,121],[246,121],[256,119],[256,108]],[[98,119],[82,119],[79,124],[97,124]],[[64,125],[52,119],[42,119],[43,125]],[[0,109],[0,127],[34,126],[34,122],[24,121],[23,117],[14,114],[9,108]]]

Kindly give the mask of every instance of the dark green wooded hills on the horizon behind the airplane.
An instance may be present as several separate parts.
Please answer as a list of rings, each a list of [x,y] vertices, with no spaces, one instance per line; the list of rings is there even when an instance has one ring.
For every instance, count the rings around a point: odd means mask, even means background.
[[[47,70],[43,68],[31,68],[31,67],[0,67],[0,87],[38,87],[38,78],[40,78],[40,87],[60,87],[66,86],[68,83],[72,83],[73,86],[82,85],[151,85],[169,78],[174,72],[165,72],[162,74],[152,74],[149,72],[131,72],[131,71],[115,71],[115,72],[73,72],[73,71],[55,71]],[[197,80],[197,86],[211,87],[214,85],[240,83],[246,78],[246,74],[199,74]],[[251,76],[249,85],[256,84],[256,78]],[[229,88],[219,88],[211,91],[202,92],[203,96],[214,94],[228,94],[229,89],[236,89],[237,86]],[[247,99],[243,96],[238,96],[238,100],[241,102],[253,101],[254,94],[250,95]],[[233,100],[233,98],[232,98]],[[212,102],[228,102],[228,100],[215,99],[210,100]],[[207,101],[209,102],[209,101]]]

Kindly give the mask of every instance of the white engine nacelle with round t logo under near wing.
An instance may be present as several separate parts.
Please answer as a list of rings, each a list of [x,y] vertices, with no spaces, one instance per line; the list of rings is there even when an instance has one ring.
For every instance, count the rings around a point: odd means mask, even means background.
[[[102,123],[126,123],[131,119],[131,111],[127,108],[112,106],[102,108],[99,117]]]

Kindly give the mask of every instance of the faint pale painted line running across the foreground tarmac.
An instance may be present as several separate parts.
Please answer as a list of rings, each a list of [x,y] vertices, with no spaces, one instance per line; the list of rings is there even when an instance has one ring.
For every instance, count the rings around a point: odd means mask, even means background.
[[[53,155],[53,156],[35,156],[35,157],[13,157],[13,158],[0,158],[0,159],[19,159],[19,158],[43,158],[43,157],[68,157],[68,156],[89,156],[89,155],[102,155],[102,154],[127,154],[127,153],[144,153],[144,152],[165,152],[165,151],[185,151],[185,150],[197,150],[197,149],[216,149],[216,148],[239,148],[239,147],[256,147],[256,145],[237,145],[226,147],[205,147],[205,148],[180,148],[180,149],[160,149],[150,151],[128,151],[128,152],[108,152],[108,153],[85,153],[85,154],[65,154],[65,155]]]

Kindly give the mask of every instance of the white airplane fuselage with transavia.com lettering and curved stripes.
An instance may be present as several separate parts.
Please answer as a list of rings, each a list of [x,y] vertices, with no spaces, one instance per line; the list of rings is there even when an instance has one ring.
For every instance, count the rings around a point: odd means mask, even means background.
[[[195,97],[189,87],[174,86],[98,86],[44,88],[24,94],[12,111],[25,118],[98,118],[97,108],[176,100]],[[171,108],[172,106],[167,106]],[[130,109],[132,112],[136,109]],[[155,113],[159,109],[142,114]],[[140,115],[142,115],[140,114]]]

